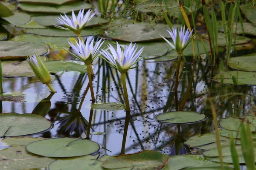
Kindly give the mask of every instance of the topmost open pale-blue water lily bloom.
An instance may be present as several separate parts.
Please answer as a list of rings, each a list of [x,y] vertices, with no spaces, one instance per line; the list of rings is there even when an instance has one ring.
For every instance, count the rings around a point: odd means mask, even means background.
[[[66,14],[64,14],[65,16],[61,15],[61,18],[57,17],[56,20],[58,20],[58,23],[60,23],[62,26],[58,26],[58,25],[54,25],[54,26],[57,28],[65,29],[65,30],[71,30],[75,34],[80,35],[84,26],[96,14],[96,12],[94,12],[93,14],[91,14],[91,13],[92,13],[92,11],[89,9],[84,14],[84,9],[83,9],[83,10],[79,11],[78,16],[76,17],[74,11],[72,10],[72,18],[68,17]]]

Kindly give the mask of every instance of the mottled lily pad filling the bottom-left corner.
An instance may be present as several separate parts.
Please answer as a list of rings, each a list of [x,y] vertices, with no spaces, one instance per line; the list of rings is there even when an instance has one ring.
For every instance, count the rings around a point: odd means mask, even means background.
[[[25,147],[9,147],[0,150],[1,170],[40,169],[47,167],[52,161],[54,159],[27,153]]]

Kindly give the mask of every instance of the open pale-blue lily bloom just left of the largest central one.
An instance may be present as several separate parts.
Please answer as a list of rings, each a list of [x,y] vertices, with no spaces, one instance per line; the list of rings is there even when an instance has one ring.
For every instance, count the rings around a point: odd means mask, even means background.
[[[65,50],[77,59],[83,61],[85,64],[90,64],[93,59],[96,59],[99,56],[98,50],[104,42],[103,41],[101,43],[101,41],[102,39],[96,42],[96,44],[93,46],[94,38],[91,41],[89,38],[87,38],[85,44],[79,39],[79,42],[76,41],[76,45],[74,45],[72,42],[68,42],[73,49],[73,53],[66,49]]]

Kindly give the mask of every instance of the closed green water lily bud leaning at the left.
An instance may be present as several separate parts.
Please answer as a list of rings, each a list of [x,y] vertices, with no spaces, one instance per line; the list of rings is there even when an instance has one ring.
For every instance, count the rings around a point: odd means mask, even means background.
[[[49,89],[55,93],[56,91],[52,88],[52,85],[50,84],[52,79],[49,74],[49,70],[44,64],[44,61],[38,56],[38,54],[35,53],[32,56],[28,56],[26,60],[29,63],[32,70],[34,71],[36,77],[38,77],[38,79],[43,84],[46,84],[49,87]]]

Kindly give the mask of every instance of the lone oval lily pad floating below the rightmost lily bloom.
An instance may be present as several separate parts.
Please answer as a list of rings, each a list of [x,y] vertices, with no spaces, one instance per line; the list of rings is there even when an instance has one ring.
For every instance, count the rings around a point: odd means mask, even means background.
[[[207,119],[207,116],[197,112],[191,111],[173,111],[161,113],[155,116],[160,123],[170,123],[170,124],[191,124],[202,122]]]

